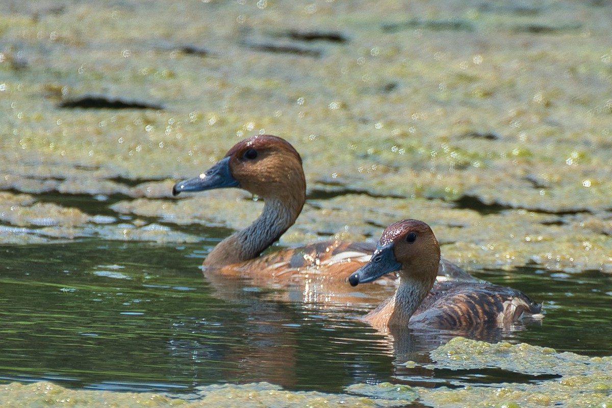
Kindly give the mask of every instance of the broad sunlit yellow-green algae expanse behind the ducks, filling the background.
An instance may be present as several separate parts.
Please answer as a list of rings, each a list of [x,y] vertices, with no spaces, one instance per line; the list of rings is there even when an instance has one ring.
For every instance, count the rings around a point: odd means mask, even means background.
[[[411,13],[387,2],[351,10],[335,2],[312,8],[153,3],[138,13],[128,5],[86,3],[58,12],[14,8],[0,20],[6,44],[0,104],[7,112],[0,125],[0,186],[35,195],[147,198],[117,205],[113,215],[152,217],[171,229],[174,220],[180,226],[190,217],[240,228],[248,217],[223,211],[211,198],[226,197],[217,192],[200,196],[207,206],[199,211],[190,200],[170,205],[156,199],[168,199],[173,181],[207,169],[237,140],[267,132],[300,151],[309,191],[330,191],[333,183],[337,194],[364,194],[346,196],[343,205],[372,201],[380,208],[341,224],[334,217],[338,203],[313,200],[302,214],[306,221],[288,231],[284,244],[367,239],[392,220],[422,217],[432,224],[444,220],[435,231],[458,263],[610,271],[605,90],[612,52],[600,12],[608,5],[411,7]],[[172,13],[182,18],[179,29],[168,21]],[[82,24],[100,29],[83,31]],[[291,29],[332,28],[348,40],[304,44],[278,37]],[[262,53],[245,46],[249,41],[308,46],[321,56]],[[176,52],[185,46],[209,53]],[[59,107],[83,95],[165,109]],[[386,196],[408,206],[389,207]],[[230,213],[255,212],[243,205],[226,203]],[[26,206],[32,214],[44,208]],[[76,222],[70,208],[50,210],[48,222],[76,228],[65,238],[82,236],[79,223],[88,216],[108,215],[80,208],[86,215]],[[523,211],[533,217],[509,217]],[[506,228],[499,224],[509,218],[516,227],[500,235]],[[31,227],[35,235],[37,220],[6,216],[3,222]],[[457,224],[467,228],[463,235]],[[11,242],[19,242],[17,235]]]

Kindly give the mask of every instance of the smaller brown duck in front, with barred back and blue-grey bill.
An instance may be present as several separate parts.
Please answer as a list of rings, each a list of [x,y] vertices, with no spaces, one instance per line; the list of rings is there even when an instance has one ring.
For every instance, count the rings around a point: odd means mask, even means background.
[[[393,296],[365,315],[379,330],[406,327],[467,329],[512,325],[542,318],[542,305],[521,291],[487,282],[437,282],[440,246],[430,226],[405,219],[389,225],[367,264],[348,278],[351,286],[395,272]]]

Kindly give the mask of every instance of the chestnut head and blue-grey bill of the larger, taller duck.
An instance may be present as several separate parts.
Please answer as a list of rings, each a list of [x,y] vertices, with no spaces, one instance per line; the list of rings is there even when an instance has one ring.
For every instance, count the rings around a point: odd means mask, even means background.
[[[289,191],[305,194],[302,158],[285,139],[257,135],[241,140],[225,156],[198,177],[174,184],[172,194],[237,187],[266,197]]]

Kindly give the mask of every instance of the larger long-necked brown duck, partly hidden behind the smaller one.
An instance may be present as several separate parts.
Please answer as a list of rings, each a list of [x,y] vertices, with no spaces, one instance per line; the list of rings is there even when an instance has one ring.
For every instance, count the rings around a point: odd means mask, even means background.
[[[252,224],[208,253],[205,270],[250,278],[255,285],[312,288],[312,283],[325,281],[334,282],[334,291],[353,291],[346,277],[367,263],[374,242],[323,241],[262,255],[296,222],[306,201],[302,158],[287,140],[270,134],[243,139],[206,172],[174,184],[172,194],[221,188],[244,189],[262,199],[264,206]],[[441,279],[471,279],[446,260],[439,263],[439,270]]]

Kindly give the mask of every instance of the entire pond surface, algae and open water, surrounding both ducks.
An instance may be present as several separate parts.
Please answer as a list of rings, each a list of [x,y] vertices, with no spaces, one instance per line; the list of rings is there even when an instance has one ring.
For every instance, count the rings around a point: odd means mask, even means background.
[[[0,403],[612,405],[610,2],[2,6]],[[422,219],[447,260],[543,302],[542,323],[481,333],[494,346],[392,338],[359,293],[205,277],[261,200],[171,187],[258,133],[304,162],[279,246]]]

